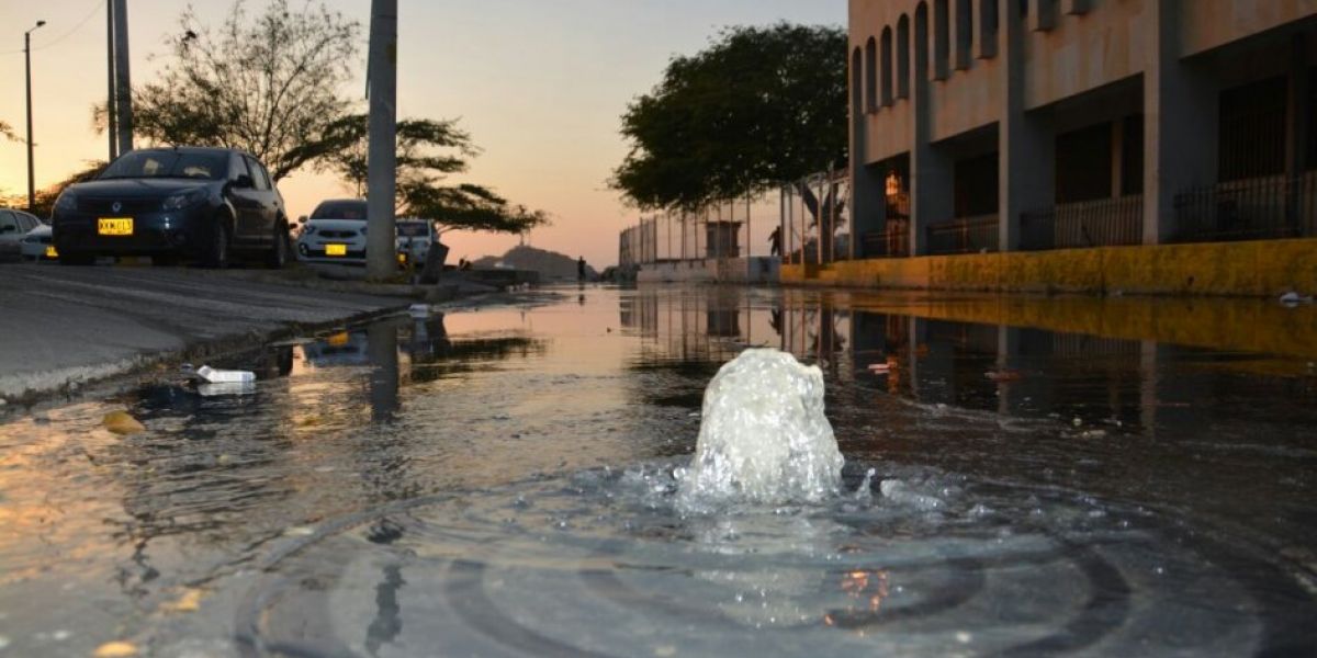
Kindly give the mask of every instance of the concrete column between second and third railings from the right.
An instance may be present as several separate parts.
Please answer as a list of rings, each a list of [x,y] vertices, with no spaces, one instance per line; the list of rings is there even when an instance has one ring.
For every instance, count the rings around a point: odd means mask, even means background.
[[[997,9],[1002,34],[1001,121],[997,125],[998,245],[1002,251],[1021,246],[1021,216],[1056,204],[1056,134],[1050,111],[1026,112],[1026,53],[1029,25],[1019,3]]]

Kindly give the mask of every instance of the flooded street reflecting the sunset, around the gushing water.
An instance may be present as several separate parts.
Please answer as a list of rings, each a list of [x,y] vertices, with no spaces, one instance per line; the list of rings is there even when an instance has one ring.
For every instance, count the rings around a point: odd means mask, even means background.
[[[1312,305],[558,292],[7,409],[0,657],[1317,654]],[[751,346],[846,491],[678,513]]]

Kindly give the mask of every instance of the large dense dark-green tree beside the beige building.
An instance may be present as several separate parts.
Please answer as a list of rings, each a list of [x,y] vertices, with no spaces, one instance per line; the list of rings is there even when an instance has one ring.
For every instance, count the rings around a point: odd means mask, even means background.
[[[847,159],[847,36],[731,28],[669,62],[622,117],[612,186],[643,208],[691,209],[797,182]]]

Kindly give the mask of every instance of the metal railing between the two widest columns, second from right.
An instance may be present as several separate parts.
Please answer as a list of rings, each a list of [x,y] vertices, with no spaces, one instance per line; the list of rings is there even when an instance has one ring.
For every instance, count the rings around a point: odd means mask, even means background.
[[[1019,217],[1019,247],[1025,251],[1141,242],[1143,195],[1060,204]]]

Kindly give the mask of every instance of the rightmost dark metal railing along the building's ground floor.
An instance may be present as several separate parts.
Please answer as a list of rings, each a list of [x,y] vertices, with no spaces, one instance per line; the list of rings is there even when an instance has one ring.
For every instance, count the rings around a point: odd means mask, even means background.
[[[1175,197],[1175,242],[1317,236],[1317,172],[1188,190]]]

